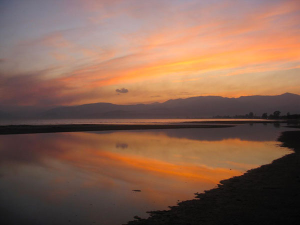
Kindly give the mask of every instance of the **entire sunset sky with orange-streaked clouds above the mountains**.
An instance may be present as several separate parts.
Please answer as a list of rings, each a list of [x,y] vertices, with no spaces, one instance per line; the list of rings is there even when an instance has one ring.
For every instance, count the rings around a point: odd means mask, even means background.
[[[0,0],[0,104],[300,94],[300,0]]]

